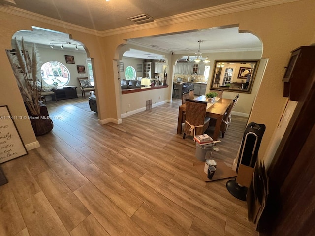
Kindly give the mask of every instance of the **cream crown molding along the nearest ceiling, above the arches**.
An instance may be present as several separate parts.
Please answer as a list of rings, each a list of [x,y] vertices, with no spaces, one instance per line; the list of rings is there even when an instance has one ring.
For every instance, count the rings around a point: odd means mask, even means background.
[[[76,30],[76,31],[91,34],[91,35],[105,37],[105,36],[112,36],[112,35],[121,34],[121,33],[134,32],[134,31],[143,30],[143,29],[152,29],[154,27],[163,27],[170,24],[183,23],[183,22],[188,22],[192,20],[200,20],[200,19],[208,18],[208,17],[253,10],[253,9],[258,9],[258,8],[263,8],[263,7],[268,7],[268,6],[280,5],[280,4],[285,4],[285,3],[295,2],[295,1],[302,1],[302,0],[241,0],[237,2],[222,4],[219,6],[190,11],[190,12],[186,12],[186,13],[182,13],[182,14],[178,14],[178,15],[174,15],[170,17],[156,19],[154,20],[154,22],[145,23],[143,25],[131,25],[131,26],[120,27],[116,29],[109,29],[109,30],[104,30],[104,31],[98,31],[95,29],[89,29],[89,28],[82,27],[79,25],[67,23],[61,20],[53,19],[47,16],[43,16],[40,14],[22,10],[13,6],[0,6],[0,12],[8,13],[10,15],[15,15],[19,17],[24,17],[24,18],[31,19],[34,21],[47,23],[47,24],[54,25],[57,27],[60,27],[62,25],[66,29],[72,29],[72,30]]]

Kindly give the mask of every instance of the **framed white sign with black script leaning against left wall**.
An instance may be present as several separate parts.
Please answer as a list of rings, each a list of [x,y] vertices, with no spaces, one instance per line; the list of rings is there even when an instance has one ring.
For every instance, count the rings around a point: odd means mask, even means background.
[[[0,106],[0,163],[28,154],[8,106]]]

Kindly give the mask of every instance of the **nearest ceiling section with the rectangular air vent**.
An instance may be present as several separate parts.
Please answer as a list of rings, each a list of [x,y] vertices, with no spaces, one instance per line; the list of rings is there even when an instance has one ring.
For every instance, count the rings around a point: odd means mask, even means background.
[[[148,14],[157,20],[240,0],[0,0],[0,4],[97,31],[131,26],[127,18]]]

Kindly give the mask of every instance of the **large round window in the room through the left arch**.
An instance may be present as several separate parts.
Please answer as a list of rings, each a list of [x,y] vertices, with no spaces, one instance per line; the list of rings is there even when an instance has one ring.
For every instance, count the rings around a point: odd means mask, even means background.
[[[49,61],[40,68],[43,81],[48,85],[64,86],[70,81],[69,70],[58,61]]]

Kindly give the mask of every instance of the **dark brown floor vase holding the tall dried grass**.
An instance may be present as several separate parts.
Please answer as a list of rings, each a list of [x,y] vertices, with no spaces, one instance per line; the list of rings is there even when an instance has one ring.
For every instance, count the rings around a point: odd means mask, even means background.
[[[32,115],[30,116],[30,120],[36,136],[47,134],[54,127],[53,121],[48,116],[41,114]]]

